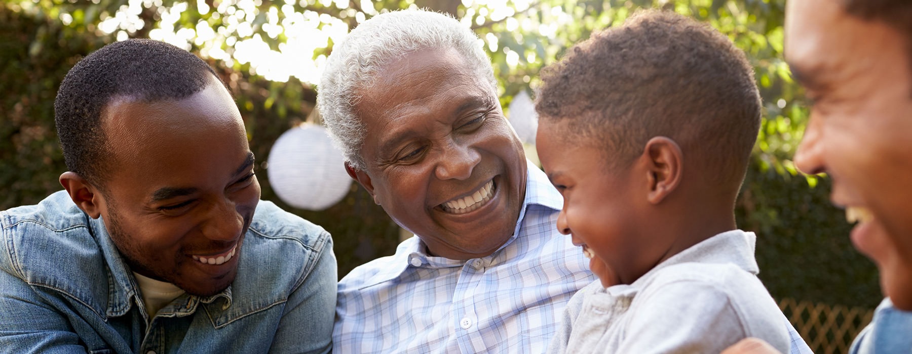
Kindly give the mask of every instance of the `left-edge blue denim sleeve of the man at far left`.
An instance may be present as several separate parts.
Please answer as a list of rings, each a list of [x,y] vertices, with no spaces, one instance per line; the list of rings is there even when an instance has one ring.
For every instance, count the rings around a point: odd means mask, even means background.
[[[9,270],[0,270],[0,352],[85,353],[66,317]]]

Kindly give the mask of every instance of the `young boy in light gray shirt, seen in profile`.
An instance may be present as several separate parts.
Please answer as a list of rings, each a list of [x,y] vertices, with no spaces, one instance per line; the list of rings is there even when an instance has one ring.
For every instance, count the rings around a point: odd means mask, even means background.
[[[728,38],[633,15],[544,70],[538,154],[564,196],[557,228],[600,278],[549,352],[718,353],[789,326],[756,277],[733,208],[760,126],[752,69]]]

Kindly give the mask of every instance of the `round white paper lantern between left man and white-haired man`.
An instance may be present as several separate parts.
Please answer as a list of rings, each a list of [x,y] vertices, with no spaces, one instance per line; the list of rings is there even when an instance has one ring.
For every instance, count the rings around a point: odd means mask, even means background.
[[[348,193],[352,179],[344,162],[323,126],[295,126],[269,152],[269,184],[292,207],[323,210]]]

